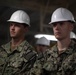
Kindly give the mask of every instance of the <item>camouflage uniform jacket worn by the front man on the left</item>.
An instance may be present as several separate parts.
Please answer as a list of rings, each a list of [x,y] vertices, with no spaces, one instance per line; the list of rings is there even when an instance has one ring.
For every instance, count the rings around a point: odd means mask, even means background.
[[[0,75],[29,75],[36,60],[36,52],[27,41],[23,41],[15,50],[10,42],[0,48]]]

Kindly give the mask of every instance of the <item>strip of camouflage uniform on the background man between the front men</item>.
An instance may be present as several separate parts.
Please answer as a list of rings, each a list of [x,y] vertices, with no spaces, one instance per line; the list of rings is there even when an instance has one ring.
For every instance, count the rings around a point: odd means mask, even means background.
[[[41,69],[43,68],[43,64],[46,62],[49,57],[48,50],[41,53],[38,53],[36,62],[34,63],[33,68],[30,71],[29,75],[41,75]]]

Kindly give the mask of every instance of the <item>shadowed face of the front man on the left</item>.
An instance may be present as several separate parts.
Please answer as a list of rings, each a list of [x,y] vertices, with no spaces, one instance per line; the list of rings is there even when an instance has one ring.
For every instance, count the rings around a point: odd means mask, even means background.
[[[19,38],[24,36],[26,32],[25,27],[20,23],[10,23],[10,36],[12,38]]]

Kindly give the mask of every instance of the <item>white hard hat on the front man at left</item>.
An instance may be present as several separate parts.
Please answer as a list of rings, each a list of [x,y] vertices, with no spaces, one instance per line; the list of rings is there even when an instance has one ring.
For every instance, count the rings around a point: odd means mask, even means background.
[[[30,18],[26,12],[23,10],[17,10],[15,11],[8,22],[18,22],[18,23],[24,23],[30,26]]]

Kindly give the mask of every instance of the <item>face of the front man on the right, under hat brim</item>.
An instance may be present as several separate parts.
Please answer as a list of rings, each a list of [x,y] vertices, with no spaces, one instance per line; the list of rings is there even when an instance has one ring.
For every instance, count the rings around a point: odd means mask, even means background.
[[[73,25],[70,22],[62,21],[53,24],[54,35],[59,40],[70,37],[72,29]]]

